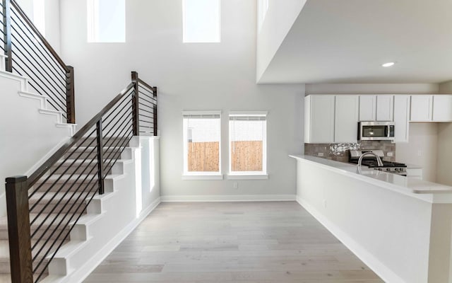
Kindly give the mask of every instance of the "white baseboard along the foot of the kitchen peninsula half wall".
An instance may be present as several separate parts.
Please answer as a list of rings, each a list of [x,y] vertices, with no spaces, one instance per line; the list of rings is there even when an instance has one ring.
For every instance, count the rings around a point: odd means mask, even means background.
[[[367,266],[371,268],[384,282],[391,283],[406,283],[405,280],[400,278],[396,273],[390,270],[384,265],[378,258],[369,253],[364,247],[359,245],[355,240],[347,235],[342,229],[333,222],[329,221],[323,214],[321,214],[315,207],[311,206],[307,201],[297,196],[297,202],[304,207],[304,209],[314,216],[323,226],[328,229],[336,238],[339,239],[349,250],[352,251],[360,260],[362,260]]]

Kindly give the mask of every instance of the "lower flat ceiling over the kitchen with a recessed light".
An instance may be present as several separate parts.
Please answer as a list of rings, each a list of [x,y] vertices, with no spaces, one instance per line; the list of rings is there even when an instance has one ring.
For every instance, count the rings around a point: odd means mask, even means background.
[[[451,11],[451,0],[308,0],[258,83],[449,81]]]

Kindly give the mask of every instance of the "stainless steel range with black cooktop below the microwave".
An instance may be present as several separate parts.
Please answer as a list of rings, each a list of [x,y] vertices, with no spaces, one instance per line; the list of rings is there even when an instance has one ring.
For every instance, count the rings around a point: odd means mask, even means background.
[[[351,150],[349,161],[350,163],[358,163],[359,157],[366,152],[371,152],[379,156],[380,158],[384,157],[384,153],[379,149],[369,149],[369,150]],[[374,170],[385,171],[388,173],[394,173],[398,175],[407,175],[407,166],[403,163],[391,162],[391,161],[382,161],[383,165],[378,164],[376,157],[366,155],[362,158],[362,165],[367,166],[369,168],[374,168]]]

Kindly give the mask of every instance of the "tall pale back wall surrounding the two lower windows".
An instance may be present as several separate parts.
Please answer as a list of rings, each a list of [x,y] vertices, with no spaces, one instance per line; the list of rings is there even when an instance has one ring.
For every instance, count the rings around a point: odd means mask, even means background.
[[[161,191],[177,195],[295,195],[288,154],[303,151],[303,85],[256,85],[255,1],[222,1],[222,42],[182,43],[182,1],[126,1],[126,43],[86,42],[85,1],[61,1],[61,49],[76,73],[76,117],[83,125],[130,82],[130,71],[158,87]],[[182,180],[182,110],[268,110],[268,180]],[[224,172],[226,173],[226,172]]]

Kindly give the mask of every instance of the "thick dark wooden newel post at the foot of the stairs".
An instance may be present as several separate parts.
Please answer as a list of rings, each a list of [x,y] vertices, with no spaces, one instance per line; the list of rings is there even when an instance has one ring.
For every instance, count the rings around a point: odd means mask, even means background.
[[[32,283],[30,209],[26,176],[6,178],[9,255],[13,283]]]

